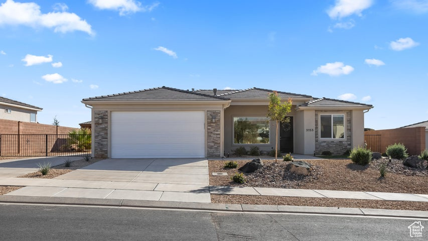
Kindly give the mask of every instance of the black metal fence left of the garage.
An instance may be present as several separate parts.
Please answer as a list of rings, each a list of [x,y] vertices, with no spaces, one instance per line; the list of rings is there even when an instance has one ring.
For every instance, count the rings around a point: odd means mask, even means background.
[[[86,156],[91,135],[0,134],[2,157]]]

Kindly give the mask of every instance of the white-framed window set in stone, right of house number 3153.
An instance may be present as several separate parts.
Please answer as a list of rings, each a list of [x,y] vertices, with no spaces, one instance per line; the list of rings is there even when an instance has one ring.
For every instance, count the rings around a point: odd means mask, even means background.
[[[321,138],[344,139],[345,138],[345,115],[344,114],[321,114],[320,135],[321,135]]]

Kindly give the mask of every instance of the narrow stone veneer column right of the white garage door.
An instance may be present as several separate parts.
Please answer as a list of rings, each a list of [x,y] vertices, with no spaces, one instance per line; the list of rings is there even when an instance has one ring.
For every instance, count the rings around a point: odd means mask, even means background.
[[[212,118],[215,122],[212,122]],[[207,155],[208,157],[220,156],[220,110],[207,110]]]

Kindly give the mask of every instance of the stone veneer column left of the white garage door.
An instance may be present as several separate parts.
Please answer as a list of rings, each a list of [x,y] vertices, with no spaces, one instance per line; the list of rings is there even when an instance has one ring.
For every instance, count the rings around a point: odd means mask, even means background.
[[[106,158],[108,156],[108,111],[94,111],[94,157]]]

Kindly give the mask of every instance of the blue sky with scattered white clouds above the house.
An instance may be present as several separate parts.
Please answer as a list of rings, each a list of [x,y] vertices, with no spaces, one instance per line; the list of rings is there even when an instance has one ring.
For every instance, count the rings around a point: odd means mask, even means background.
[[[0,1],[0,95],[78,127],[82,98],[261,87],[428,119],[428,1]]]

